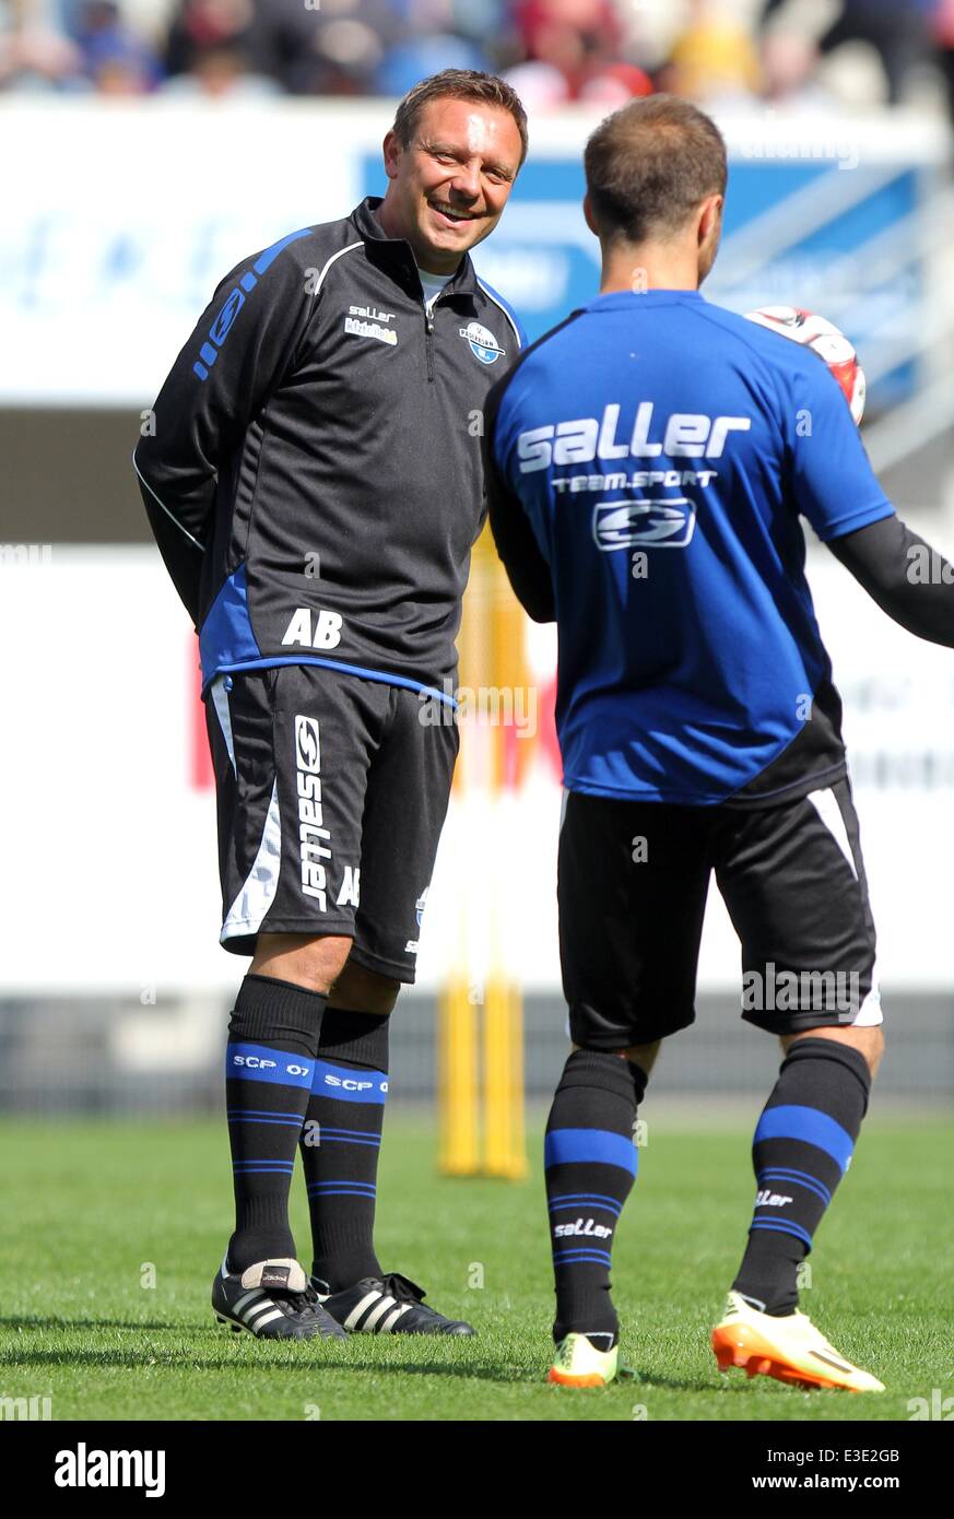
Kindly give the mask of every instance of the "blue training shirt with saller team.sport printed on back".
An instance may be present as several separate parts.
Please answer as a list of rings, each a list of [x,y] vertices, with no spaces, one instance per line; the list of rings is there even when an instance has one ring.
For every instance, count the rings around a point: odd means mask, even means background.
[[[823,691],[843,766],[799,515],[828,541],[893,507],[817,354],[697,290],[597,296],[492,396],[488,465],[507,568],[510,513],[548,574],[570,790],[758,793]]]

